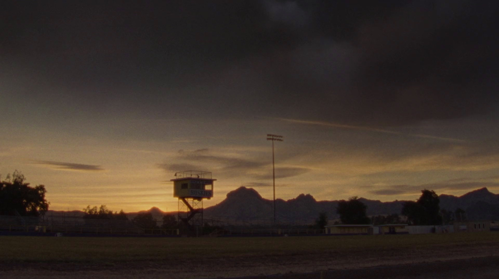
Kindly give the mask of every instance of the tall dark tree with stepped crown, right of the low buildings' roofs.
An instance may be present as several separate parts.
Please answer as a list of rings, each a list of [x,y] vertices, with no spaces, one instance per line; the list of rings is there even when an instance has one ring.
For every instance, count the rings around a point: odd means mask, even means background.
[[[407,216],[414,225],[442,224],[440,215],[440,198],[433,190],[421,190],[421,196],[414,201],[406,201],[402,207],[402,215]]]

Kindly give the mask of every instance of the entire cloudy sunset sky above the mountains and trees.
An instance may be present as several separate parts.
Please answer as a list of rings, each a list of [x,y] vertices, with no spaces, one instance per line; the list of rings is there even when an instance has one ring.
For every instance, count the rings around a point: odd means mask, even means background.
[[[50,209],[499,192],[499,2],[0,2],[0,173]]]

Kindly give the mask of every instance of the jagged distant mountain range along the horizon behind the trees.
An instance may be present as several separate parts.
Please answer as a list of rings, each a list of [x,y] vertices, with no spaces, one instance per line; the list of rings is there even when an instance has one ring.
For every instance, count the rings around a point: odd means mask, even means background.
[[[466,210],[470,220],[499,220],[499,195],[485,187],[462,196],[441,194],[439,197],[441,209],[455,211],[457,208],[462,208]],[[382,202],[362,197],[359,200],[367,205],[368,215],[400,214],[405,202],[404,200]],[[312,224],[322,211],[327,213],[329,220],[333,220],[339,218],[336,213],[337,205],[338,200],[317,201],[312,195],[303,193],[288,200],[278,198],[275,200],[276,220],[285,223]],[[222,223],[265,225],[272,221],[272,210],[272,200],[263,198],[253,188],[242,186],[230,191],[220,203],[205,208],[204,218],[206,221]],[[166,213],[177,213],[151,207],[148,210],[129,212],[127,216],[131,219],[141,212],[151,212],[157,220],[161,220]],[[79,210],[70,212],[49,210],[47,216],[51,214],[80,217],[84,213]]]

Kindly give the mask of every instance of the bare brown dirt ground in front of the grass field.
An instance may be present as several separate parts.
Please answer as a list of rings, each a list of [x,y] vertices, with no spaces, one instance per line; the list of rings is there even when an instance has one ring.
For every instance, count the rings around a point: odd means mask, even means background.
[[[103,263],[0,262],[0,278],[498,278],[499,244]]]

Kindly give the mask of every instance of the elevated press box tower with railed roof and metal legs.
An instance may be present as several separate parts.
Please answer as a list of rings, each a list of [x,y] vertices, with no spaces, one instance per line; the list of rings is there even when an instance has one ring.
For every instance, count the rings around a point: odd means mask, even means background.
[[[173,196],[178,197],[178,218],[195,232],[203,226],[203,199],[213,197],[212,173],[209,171],[185,170],[175,173]]]

